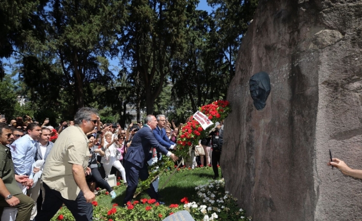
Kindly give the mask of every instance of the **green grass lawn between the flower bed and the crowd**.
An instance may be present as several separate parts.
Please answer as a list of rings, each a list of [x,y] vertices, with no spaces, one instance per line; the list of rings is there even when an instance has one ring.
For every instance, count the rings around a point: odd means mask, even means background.
[[[221,174],[221,170],[219,169],[219,174]],[[161,188],[170,173],[164,173],[160,177],[159,188]],[[160,199],[165,202],[166,205],[171,204],[179,204],[180,199],[183,197],[188,197],[190,202],[192,202],[193,195],[195,195],[195,187],[199,185],[208,184],[214,173],[211,167],[204,168],[196,168],[194,170],[182,169],[176,172],[172,178],[169,180],[168,184],[164,189],[159,190],[159,194],[163,197]],[[96,197],[99,206],[112,208],[112,204],[122,205],[123,199],[125,197],[126,186],[122,186],[116,190],[117,197],[115,199],[111,199],[109,195],[100,194]],[[140,198],[149,198],[146,191],[139,194],[135,200],[139,200]]]

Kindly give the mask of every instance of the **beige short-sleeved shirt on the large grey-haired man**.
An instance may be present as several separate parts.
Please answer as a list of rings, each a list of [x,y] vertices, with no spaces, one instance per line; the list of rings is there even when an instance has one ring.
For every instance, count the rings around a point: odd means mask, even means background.
[[[89,139],[78,125],[68,127],[56,139],[45,162],[43,182],[66,199],[75,200],[81,189],[75,183],[72,166],[86,170],[89,160]]]

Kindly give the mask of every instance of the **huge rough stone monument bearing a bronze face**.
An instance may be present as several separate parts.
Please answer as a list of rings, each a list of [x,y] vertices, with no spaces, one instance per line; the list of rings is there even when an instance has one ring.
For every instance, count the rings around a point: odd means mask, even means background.
[[[362,1],[262,0],[238,52],[221,158],[254,220],[362,220]],[[269,74],[256,110],[249,79]]]

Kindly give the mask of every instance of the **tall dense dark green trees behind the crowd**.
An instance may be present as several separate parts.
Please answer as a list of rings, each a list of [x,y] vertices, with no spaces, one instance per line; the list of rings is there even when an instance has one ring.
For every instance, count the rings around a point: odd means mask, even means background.
[[[212,13],[197,0],[3,0],[0,58],[15,59],[16,93],[39,117],[59,122],[92,106],[124,126],[133,104],[138,120],[146,107],[182,121],[226,97],[257,5],[208,3]]]

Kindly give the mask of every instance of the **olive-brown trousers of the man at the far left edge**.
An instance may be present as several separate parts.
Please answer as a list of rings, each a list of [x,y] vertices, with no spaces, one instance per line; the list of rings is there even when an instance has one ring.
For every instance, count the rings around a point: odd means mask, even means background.
[[[21,193],[14,195],[19,199],[20,203],[18,203],[15,208],[17,208],[17,216],[15,221],[29,221],[31,216],[31,210],[34,206],[34,200],[29,196]],[[4,207],[10,207],[10,205],[6,202],[4,198],[0,199],[0,218],[3,214]]]

